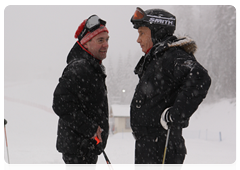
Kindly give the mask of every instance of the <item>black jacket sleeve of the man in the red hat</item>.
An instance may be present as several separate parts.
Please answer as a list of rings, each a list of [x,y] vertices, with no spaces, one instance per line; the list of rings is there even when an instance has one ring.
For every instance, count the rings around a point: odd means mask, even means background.
[[[75,62],[67,66],[54,91],[52,107],[66,126],[91,138],[98,125],[86,113],[86,91],[90,83],[86,64]]]

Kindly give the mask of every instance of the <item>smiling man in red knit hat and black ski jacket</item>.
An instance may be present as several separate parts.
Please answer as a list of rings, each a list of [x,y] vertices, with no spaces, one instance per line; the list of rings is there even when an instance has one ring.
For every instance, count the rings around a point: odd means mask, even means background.
[[[107,143],[108,101],[102,60],[109,36],[105,24],[97,15],[81,23],[75,34],[78,41],[54,91],[53,110],[59,116],[57,150],[67,170],[95,170]]]

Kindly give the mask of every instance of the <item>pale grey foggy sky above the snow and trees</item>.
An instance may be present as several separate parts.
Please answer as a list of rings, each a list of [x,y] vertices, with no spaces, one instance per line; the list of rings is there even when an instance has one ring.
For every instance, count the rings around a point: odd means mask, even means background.
[[[4,6],[5,80],[60,76],[76,42],[80,23],[97,14],[107,21],[109,50],[104,63],[135,54],[141,48],[130,18],[136,5]],[[144,10],[170,6],[141,6]],[[171,11],[170,11],[171,12]],[[140,58],[140,56],[139,56]]]

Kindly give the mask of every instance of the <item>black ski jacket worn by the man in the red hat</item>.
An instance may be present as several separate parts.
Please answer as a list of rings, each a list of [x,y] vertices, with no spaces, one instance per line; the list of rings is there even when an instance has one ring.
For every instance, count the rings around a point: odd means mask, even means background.
[[[103,129],[103,149],[108,138],[108,102],[106,75],[99,60],[78,43],[67,57],[59,83],[54,91],[53,110],[59,116],[57,150],[80,153],[84,139],[90,139]]]

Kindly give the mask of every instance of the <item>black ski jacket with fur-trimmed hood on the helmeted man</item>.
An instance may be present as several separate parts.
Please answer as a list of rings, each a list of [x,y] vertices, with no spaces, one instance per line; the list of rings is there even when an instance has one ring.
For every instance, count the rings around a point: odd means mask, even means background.
[[[206,97],[211,79],[194,52],[196,44],[188,37],[168,37],[153,46],[135,68],[139,83],[131,102],[134,134],[165,134],[160,124],[162,112],[170,108],[172,131],[181,135],[191,115]]]

